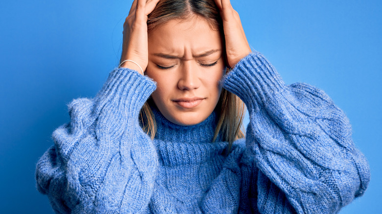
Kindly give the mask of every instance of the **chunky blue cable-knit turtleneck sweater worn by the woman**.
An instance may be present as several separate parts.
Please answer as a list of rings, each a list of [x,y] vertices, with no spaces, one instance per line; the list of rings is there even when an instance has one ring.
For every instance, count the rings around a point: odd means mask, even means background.
[[[59,214],[337,213],[370,180],[344,112],[322,90],[285,85],[259,52],[243,58],[222,86],[249,111],[245,139],[232,150],[212,142],[217,114],[194,126],[153,108],[151,140],[139,111],[150,78],[113,70],[92,99],[74,99],[36,167],[37,189]]]

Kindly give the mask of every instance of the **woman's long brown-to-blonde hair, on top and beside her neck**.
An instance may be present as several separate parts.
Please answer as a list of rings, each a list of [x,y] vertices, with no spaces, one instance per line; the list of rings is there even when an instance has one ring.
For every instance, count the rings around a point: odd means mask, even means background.
[[[148,15],[147,31],[150,32],[170,20],[176,19],[182,21],[193,16],[205,19],[210,24],[211,29],[218,30],[224,45],[223,23],[214,0],[161,0],[154,11]],[[151,139],[154,139],[156,122],[148,104],[150,99],[143,105],[140,111],[140,121],[143,125],[143,131]],[[232,143],[244,137],[244,132],[242,131],[244,104],[238,96],[222,88],[215,111],[219,120],[215,128],[213,141],[216,140],[220,133],[222,140],[229,142],[228,150],[225,152],[228,154]]]

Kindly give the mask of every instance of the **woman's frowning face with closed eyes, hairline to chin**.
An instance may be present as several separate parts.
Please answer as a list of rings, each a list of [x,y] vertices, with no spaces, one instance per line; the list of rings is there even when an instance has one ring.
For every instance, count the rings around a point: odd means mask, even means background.
[[[157,82],[151,97],[172,123],[195,125],[213,112],[224,69],[220,33],[203,19],[167,21],[148,34],[145,74]]]

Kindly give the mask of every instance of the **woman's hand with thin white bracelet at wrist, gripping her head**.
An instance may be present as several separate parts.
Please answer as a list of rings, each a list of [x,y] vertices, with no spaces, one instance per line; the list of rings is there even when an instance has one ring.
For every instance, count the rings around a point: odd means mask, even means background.
[[[147,15],[150,14],[159,0],[134,0],[129,15],[123,23],[122,55],[119,63],[132,60],[138,63],[143,71],[148,64]],[[140,71],[138,65],[125,62],[121,67]]]

